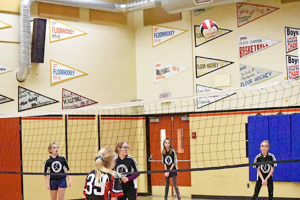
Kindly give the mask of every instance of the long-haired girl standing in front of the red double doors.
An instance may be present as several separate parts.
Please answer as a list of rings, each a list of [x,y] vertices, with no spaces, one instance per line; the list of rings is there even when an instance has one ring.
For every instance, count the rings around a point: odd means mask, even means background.
[[[163,154],[162,160],[163,160],[163,165],[165,167],[165,170],[178,169],[177,168],[176,151],[172,148],[171,140],[168,137],[163,141],[163,153],[162,154]],[[168,199],[170,177],[172,177],[173,186],[175,187],[175,192],[176,192],[177,198],[178,198],[178,200],[180,200],[180,193],[179,193],[178,185],[176,182],[177,175],[178,175],[178,172],[166,172],[165,173],[165,177],[166,177],[165,200]]]

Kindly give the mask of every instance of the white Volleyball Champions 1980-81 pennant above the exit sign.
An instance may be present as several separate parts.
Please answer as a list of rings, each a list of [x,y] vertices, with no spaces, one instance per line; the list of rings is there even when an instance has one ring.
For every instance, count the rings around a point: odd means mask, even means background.
[[[154,61],[154,83],[159,83],[187,69],[189,68]]]

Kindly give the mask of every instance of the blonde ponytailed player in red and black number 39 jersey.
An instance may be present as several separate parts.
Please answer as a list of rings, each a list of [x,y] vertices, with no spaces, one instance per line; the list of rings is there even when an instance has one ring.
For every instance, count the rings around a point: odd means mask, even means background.
[[[95,158],[95,169],[85,180],[83,194],[86,200],[117,200],[123,196],[118,179],[121,174],[112,170],[115,167],[115,157],[111,148],[99,150]]]

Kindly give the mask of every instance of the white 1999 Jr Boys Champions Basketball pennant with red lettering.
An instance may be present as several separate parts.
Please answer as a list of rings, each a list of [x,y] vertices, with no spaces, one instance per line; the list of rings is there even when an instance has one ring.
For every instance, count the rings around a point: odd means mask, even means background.
[[[271,47],[281,41],[269,40],[260,37],[252,37],[247,35],[238,36],[239,58],[244,58],[253,53],[259,52],[267,47]]]

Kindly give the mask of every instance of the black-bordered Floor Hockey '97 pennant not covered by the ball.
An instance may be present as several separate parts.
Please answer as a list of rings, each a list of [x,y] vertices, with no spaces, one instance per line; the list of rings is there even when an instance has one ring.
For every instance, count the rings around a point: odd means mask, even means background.
[[[196,56],[196,78],[216,71],[234,62]]]

